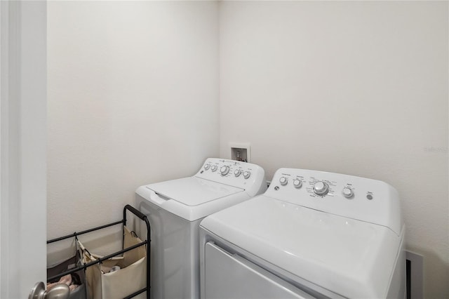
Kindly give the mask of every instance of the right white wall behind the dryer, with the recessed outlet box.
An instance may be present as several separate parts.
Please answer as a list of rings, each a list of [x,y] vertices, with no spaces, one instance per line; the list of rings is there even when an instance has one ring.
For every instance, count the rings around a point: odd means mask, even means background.
[[[384,180],[448,298],[448,2],[222,1],[220,156]],[[331,248],[329,248],[331,250]]]

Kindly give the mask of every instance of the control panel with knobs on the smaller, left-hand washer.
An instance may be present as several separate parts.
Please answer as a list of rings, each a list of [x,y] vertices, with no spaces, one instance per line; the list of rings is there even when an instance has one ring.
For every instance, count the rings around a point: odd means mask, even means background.
[[[243,161],[208,158],[195,176],[239,187],[246,190],[250,197],[267,190],[264,169]]]

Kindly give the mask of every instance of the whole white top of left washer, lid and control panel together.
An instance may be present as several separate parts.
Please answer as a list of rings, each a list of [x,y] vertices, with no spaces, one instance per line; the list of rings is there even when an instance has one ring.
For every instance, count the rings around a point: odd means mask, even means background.
[[[136,193],[189,221],[267,190],[264,170],[255,164],[209,158],[196,175],[141,186]]]

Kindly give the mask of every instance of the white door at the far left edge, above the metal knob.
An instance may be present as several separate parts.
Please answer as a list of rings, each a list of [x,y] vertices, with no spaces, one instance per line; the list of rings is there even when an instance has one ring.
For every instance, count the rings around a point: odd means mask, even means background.
[[[0,1],[0,298],[46,281],[46,1]]]

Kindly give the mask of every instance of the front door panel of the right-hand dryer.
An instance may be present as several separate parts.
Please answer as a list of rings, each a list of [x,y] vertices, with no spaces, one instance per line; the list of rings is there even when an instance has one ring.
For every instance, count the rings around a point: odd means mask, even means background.
[[[231,255],[217,245],[205,246],[205,298],[314,298],[274,274]]]

